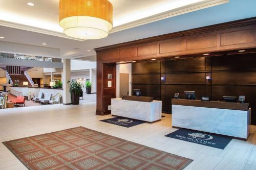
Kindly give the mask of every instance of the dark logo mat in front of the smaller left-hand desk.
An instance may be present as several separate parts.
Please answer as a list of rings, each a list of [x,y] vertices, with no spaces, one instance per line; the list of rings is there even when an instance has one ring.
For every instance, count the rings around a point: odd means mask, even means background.
[[[141,121],[141,120],[124,118],[124,117],[114,117],[114,118],[104,119],[104,120],[100,120],[100,121],[109,123],[109,124],[126,127],[126,128],[130,128],[130,127],[145,123],[144,121]]]

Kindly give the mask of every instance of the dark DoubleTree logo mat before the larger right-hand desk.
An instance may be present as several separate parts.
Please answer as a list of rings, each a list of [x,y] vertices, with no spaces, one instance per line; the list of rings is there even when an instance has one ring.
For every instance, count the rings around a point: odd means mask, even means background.
[[[208,134],[186,129],[179,129],[165,136],[222,150],[225,149],[228,143],[232,140],[231,137],[227,136]]]

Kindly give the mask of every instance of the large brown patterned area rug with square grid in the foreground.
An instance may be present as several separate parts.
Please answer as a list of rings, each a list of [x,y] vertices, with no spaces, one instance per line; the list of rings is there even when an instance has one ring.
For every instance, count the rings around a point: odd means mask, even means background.
[[[183,169],[192,160],[83,127],[3,142],[28,169]]]

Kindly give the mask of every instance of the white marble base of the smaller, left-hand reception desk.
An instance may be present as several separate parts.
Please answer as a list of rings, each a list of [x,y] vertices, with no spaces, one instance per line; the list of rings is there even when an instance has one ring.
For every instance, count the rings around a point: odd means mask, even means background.
[[[111,99],[111,114],[154,123],[161,120],[162,102],[140,102],[122,100],[121,98]]]

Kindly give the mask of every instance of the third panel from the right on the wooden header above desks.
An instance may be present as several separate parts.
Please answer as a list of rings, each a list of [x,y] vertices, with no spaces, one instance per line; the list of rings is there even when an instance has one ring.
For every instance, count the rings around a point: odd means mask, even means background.
[[[186,38],[173,38],[159,42],[159,54],[186,51]]]

